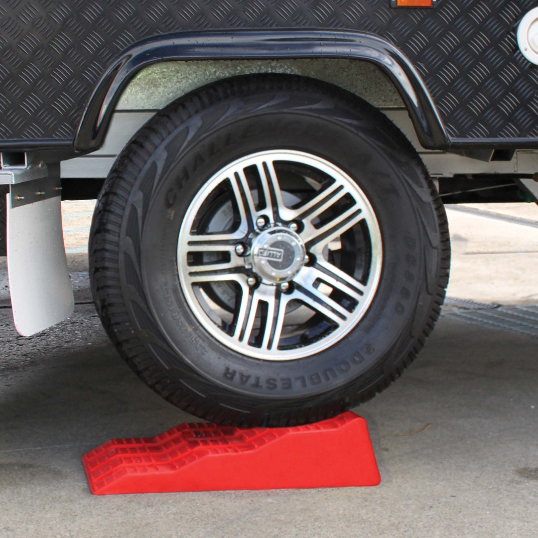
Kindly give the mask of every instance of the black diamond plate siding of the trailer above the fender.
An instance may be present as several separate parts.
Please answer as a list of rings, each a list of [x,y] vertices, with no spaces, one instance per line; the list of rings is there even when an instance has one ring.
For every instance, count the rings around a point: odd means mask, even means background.
[[[108,63],[181,30],[322,28],[376,34],[422,74],[452,138],[538,138],[538,70],[515,30],[536,0],[0,0],[0,140],[72,139]]]

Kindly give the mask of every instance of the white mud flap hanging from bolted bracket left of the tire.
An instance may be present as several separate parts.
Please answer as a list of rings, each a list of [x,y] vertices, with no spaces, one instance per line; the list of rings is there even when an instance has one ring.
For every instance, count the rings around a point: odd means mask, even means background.
[[[74,309],[63,246],[59,165],[48,168],[46,177],[11,185],[7,195],[11,305],[23,336],[51,327]]]

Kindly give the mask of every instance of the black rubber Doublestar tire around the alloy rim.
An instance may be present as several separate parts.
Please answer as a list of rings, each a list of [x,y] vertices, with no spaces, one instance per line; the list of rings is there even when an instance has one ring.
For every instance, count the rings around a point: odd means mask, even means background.
[[[384,251],[376,296],[357,327],[328,350],[277,363],[241,356],[200,326],[175,259],[197,189],[228,162],[273,147],[315,153],[348,172],[376,212]],[[449,244],[433,182],[384,115],[330,84],[257,75],[197,90],[134,136],[97,202],[90,278],[105,330],[153,390],[216,423],[277,427],[334,416],[400,376],[440,314]]]

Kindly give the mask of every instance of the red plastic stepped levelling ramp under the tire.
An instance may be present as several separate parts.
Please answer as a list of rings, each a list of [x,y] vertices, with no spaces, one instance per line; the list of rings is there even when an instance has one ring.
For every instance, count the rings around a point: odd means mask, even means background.
[[[157,437],[108,441],[82,462],[96,495],[380,482],[366,421],[351,411],[289,428],[180,424]]]

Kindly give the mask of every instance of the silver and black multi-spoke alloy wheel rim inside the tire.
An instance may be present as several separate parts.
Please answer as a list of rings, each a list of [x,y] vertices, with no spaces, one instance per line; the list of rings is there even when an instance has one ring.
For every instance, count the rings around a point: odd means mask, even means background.
[[[294,150],[246,155],[214,174],[189,204],[177,250],[203,329],[264,360],[308,357],[348,335],[376,294],[382,257],[363,190]]]

